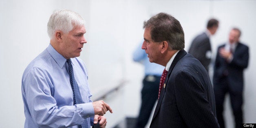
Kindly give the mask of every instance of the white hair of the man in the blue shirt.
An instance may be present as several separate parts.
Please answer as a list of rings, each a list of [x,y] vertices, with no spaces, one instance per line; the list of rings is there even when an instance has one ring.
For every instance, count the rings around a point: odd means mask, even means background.
[[[84,19],[78,13],[71,10],[56,10],[48,21],[47,32],[52,39],[55,31],[68,33],[74,26],[84,26],[84,24]]]

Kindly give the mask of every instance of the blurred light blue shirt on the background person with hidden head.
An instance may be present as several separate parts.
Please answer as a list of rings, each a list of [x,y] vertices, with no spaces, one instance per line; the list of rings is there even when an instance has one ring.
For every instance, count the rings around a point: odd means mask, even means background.
[[[148,54],[145,50],[141,49],[142,43],[135,49],[133,53],[133,60],[135,62],[141,62],[145,68],[145,76],[146,75],[157,75],[161,76],[163,73],[164,66],[160,64],[149,62]]]

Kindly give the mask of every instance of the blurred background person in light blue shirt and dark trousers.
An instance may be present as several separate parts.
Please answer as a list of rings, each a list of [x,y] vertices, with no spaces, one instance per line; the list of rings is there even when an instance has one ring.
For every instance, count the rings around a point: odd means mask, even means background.
[[[144,128],[157,101],[159,82],[164,66],[150,63],[146,52],[141,49],[143,41],[133,53],[133,60],[144,66],[145,77],[143,78],[143,88],[141,90],[141,107],[135,128]]]

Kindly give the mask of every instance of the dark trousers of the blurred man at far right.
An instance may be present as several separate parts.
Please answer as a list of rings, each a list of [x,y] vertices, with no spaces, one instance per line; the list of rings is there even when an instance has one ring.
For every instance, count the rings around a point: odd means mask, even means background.
[[[233,115],[235,117],[236,128],[241,128],[243,123],[243,85],[241,85],[239,89],[235,88],[234,85],[232,86],[229,84],[228,77],[221,78],[220,84],[214,85],[216,116],[218,119],[218,124],[221,126],[221,128],[225,128],[225,122],[223,119],[223,103],[227,93],[230,94],[230,101]]]

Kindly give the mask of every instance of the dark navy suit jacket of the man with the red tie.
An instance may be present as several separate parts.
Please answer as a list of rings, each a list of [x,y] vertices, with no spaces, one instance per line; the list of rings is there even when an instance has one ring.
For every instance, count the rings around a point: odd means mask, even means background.
[[[174,58],[150,128],[218,128],[215,100],[203,65],[185,50]]]

